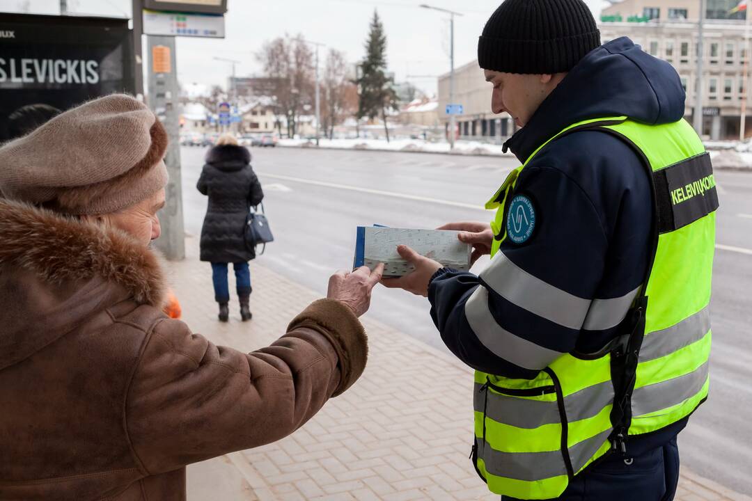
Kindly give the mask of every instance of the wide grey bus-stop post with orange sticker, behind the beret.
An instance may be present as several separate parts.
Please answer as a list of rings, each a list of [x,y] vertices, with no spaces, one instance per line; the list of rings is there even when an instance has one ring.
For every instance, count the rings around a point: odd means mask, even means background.
[[[159,211],[162,224],[162,236],[155,245],[171,260],[185,258],[185,230],[183,227],[183,189],[180,184],[180,113],[178,111],[177,59],[175,58],[175,38],[148,37],[149,55],[157,45],[168,47],[170,51],[169,73],[154,73],[154,65],[149,68],[149,106],[155,112],[164,110],[159,115],[169,137],[165,164],[170,181],[165,186],[167,201],[165,208]]]

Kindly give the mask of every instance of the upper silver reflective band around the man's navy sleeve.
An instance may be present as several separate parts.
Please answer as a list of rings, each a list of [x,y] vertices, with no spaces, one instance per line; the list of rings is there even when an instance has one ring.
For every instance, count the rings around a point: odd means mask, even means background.
[[[580,330],[590,300],[562,291],[532,276],[498,252],[481,279],[510,303],[556,324]]]

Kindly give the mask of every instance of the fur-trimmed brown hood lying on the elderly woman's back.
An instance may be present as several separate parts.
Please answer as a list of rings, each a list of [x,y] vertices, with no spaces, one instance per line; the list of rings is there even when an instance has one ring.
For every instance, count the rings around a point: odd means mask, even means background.
[[[159,257],[127,234],[0,199],[0,370],[123,300],[161,307]]]

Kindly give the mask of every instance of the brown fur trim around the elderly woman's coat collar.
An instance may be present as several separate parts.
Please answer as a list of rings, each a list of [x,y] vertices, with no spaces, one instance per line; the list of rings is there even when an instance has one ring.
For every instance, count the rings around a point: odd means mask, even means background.
[[[0,264],[56,283],[99,275],[122,285],[137,303],[162,306],[159,258],[122,231],[0,199],[0,235]]]

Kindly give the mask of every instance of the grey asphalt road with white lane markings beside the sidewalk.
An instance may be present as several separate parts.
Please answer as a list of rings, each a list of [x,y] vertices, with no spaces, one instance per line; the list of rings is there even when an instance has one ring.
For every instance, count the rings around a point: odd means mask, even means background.
[[[181,149],[186,232],[198,245],[206,198],[196,191],[205,149]],[[435,228],[490,220],[481,206],[512,168],[511,158],[315,149],[253,149],[275,242],[259,263],[326,293],[329,276],[353,262],[355,228]],[[717,172],[711,396],[680,435],[683,464],[752,494],[752,173]],[[487,266],[479,261],[473,271]],[[207,264],[207,273],[211,273]],[[263,291],[254,291],[263,294]],[[251,297],[253,309],[253,297]],[[444,349],[429,304],[379,289],[368,315]]]

